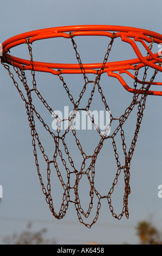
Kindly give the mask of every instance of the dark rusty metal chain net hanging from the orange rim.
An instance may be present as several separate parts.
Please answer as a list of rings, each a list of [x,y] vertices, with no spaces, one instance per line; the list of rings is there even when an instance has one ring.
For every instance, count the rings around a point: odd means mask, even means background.
[[[136,72],[135,72],[135,82],[134,82],[134,94],[133,94],[132,102],[130,103],[130,105],[127,107],[127,109],[124,111],[124,113],[119,118],[119,125],[116,127],[115,131],[111,135],[107,135],[107,132],[109,130],[109,126],[107,127],[103,136],[101,136],[101,134],[100,134],[99,127],[96,126],[96,130],[99,133],[99,136],[101,138],[100,138],[100,141],[99,141],[96,149],[94,150],[94,153],[91,156],[87,156],[85,154],[85,152],[83,151],[83,148],[82,148],[82,144],[80,143],[79,139],[77,138],[76,131],[74,129],[71,129],[72,134],[74,136],[74,139],[76,141],[76,145],[77,145],[77,147],[80,151],[80,154],[83,157],[83,162],[82,162],[81,168],[80,168],[80,170],[78,170],[78,169],[75,168],[72,157],[71,157],[71,155],[68,151],[68,147],[65,143],[65,136],[70,131],[70,127],[72,127],[72,125],[73,125],[73,121],[74,121],[74,118],[76,116],[77,111],[79,109],[81,109],[81,108],[79,108],[79,103],[80,103],[80,100],[82,99],[82,97],[85,93],[86,87],[89,83],[94,83],[94,87],[91,91],[91,94],[90,94],[90,97],[89,97],[89,100],[88,100],[88,105],[84,108],[84,111],[86,111],[89,114],[89,117],[90,117],[92,123],[94,123],[94,119],[90,115],[89,108],[90,108],[90,105],[91,105],[91,102],[92,102],[92,97],[94,96],[94,93],[95,93],[96,89],[98,89],[98,92],[101,95],[101,99],[102,99],[102,102],[104,103],[105,109],[107,111],[109,111],[109,106],[107,104],[105,96],[103,95],[103,91],[102,91],[101,86],[99,85],[99,81],[100,81],[100,78],[103,74],[105,64],[108,61],[109,53],[111,51],[111,47],[113,46],[113,42],[114,42],[114,39],[115,39],[115,33],[114,33],[114,38],[111,38],[111,40],[109,42],[108,50],[105,53],[102,68],[101,68],[101,70],[98,70],[98,75],[96,76],[94,81],[89,81],[88,77],[86,76],[86,72],[84,70],[82,61],[81,61],[79,53],[77,51],[76,42],[74,41],[71,33],[70,33],[70,38],[71,38],[71,41],[72,41],[74,51],[76,53],[77,61],[80,65],[80,70],[82,71],[82,74],[83,74],[83,77],[84,77],[85,84],[83,86],[82,91],[80,92],[79,99],[75,102],[74,99],[73,99],[72,94],[70,93],[70,90],[67,87],[67,84],[64,81],[63,76],[61,76],[61,71],[60,71],[60,75],[58,75],[60,81],[63,83],[63,87],[65,88],[65,90],[67,92],[68,98],[70,99],[70,101],[73,104],[72,114],[68,118],[69,126],[67,127],[67,129],[65,130],[65,132],[62,136],[60,135],[60,124],[61,124],[61,121],[63,121],[63,120],[60,120],[58,115],[56,115],[53,112],[53,109],[48,105],[47,101],[45,99],[43,99],[41,93],[39,92],[39,90],[37,88],[36,80],[35,80],[34,65],[33,65],[32,47],[29,45],[28,40],[27,40],[27,46],[28,46],[28,50],[29,50],[29,54],[30,54],[30,63],[31,63],[31,66],[33,67],[33,69],[32,69],[33,88],[32,89],[29,89],[25,72],[22,71],[22,70],[19,70],[16,66],[14,66],[14,63],[12,63],[13,68],[14,68],[18,78],[20,79],[21,83],[24,86],[24,89],[26,90],[27,97],[24,96],[24,94],[20,90],[20,87],[18,86],[18,83],[15,81],[13,73],[10,71],[9,65],[6,65],[4,63],[2,63],[2,64],[4,65],[4,68],[8,70],[9,75],[10,75],[11,79],[13,80],[13,82],[15,84],[15,87],[17,88],[18,93],[20,94],[20,96],[21,96],[21,98],[24,102],[24,105],[26,107],[26,110],[27,110],[27,117],[28,117],[30,129],[31,129],[32,144],[33,144],[33,148],[34,148],[35,164],[36,164],[37,172],[38,172],[38,175],[39,175],[40,184],[42,186],[42,192],[43,192],[43,194],[45,194],[46,202],[49,205],[49,209],[51,210],[51,212],[52,212],[52,214],[55,218],[61,219],[65,216],[66,211],[68,209],[68,205],[70,203],[73,203],[74,206],[76,207],[76,211],[77,211],[77,215],[78,215],[78,219],[79,219],[80,223],[83,223],[86,227],[91,228],[91,226],[98,219],[99,209],[101,208],[101,200],[102,199],[107,199],[111,214],[115,218],[120,220],[123,215],[125,215],[127,218],[129,218],[128,196],[130,194],[130,186],[129,186],[130,161],[132,160],[135,144],[136,144],[136,141],[137,141],[137,138],[138,138],[138,133],[139,133],[139,130],[140,130],[140,125],[141,125],[141,121],[142,121],[142,117],[143,117],[143,113],[144,113],[144,109],[145,109],[145,104],[146,104],[147,90],[151,87],[151,84],[152,84],[152,82],[155,78],[155,75],[157,74],[158,71],[157,70],[154,71],[154,74],[153,74],[149,84],[146,85],[145,81],[146,81],[148,66],[145,66],[144,77],[143,77],[143,80],[142,80],[142,87],[140,89],[140,90],[144,91],[144,94],[138,94],[138,93],[136,93],[136,86],[137,86],[137,82],[138,82],[138,72],[139,72],[139,70],[136,70]],[[151,50],[151,47],[150,47],[150,50]],[[149,59],[149,54],[147,54],[147,59]],[[1,62],[2,62],[2,60],[1,60]],[[159,65],[161,65],[161,63],[159,63]],[[35,106],[33,105],[33,102],[32,102],[31,92],[35,92],[35,94],[38,96],[38,98],[43,103],[43,105],[48,109],[49,113],[51,113],[55,118],[57,118],[57,120],[59,120],[58,121],[59,125],[58,125],[56,135],[49,129],[49,126],[45,123],[45,121],[43,121],[41,115],[36,111]],[[133,111],[135,106],[138,106],[136,128],[135,128],[135,132],[134,132],[134,137],[132,139],[132,143],[130,145],[129,150],[127,151],[125,138],[124,138],[123,124],[128,119],[130,113]],[[43,145],[40,141],[38,132],[36,131],[34,115],[35,115],[36,118],[39,119],[40,123],[43,125],[43,127],[47,130],[47,132],[49,132],[49,134],[52,137],[52,140],[53,140],[53,143],[54,143],[54,148],[55,148],[52,160],[49,160],[48,156],[45,154],[45,150],[44,150]],[[114,119],[115,118],[113,118],[113,116],[111,115],[111,117],[110,117],[111,122]],[[117,147],[116,147],[116,141],[115,141],[115,136],[117,135],[117,133],[120,133],[121,139],[122,139],[122,149],[123,149],[124,159],[125,159],[125,162],[124,162],[123,166],[121,165],[121,162],[119,161],[119,155],[117,153]],[[103,196],[95,188],[95,163],[96,163],[96,160],[97,160],[97,156],[98,156],[99,152],[101,151],[101,149],[103,147],[103,143],[104,143],[105,139],[109,139],[112,143],[112,146],[113,146],[113,149],[114,149],[114,155],[115,155],[115,159],[116,159],[117,172],[116,172],[116,175],[115,175],[115,179],[113,181],[113,185],[111,186],[108,194]],[[63,152],[59,148],[60,141],[64,145],[64,151],[65,151],[65,154],[67,155],[68,162],[70,163],[71,170],[67,167],[67,163],[66,163],[66,161],[63,157]],[[38,154],[37,154],[37,150],[36,150],[36,144],[38,145],[38,147],[39,147],[39,149],[40,149],[40,151],[43,155],[43,158],[44,158],[44,160],[47,164],[47,186],[46,187],[43,183],[42,175],[40,173],[40,167],[39,167],[39,162],[38,162]],[[60,156],[61,162],[63,163],[63,166],[66,170],[67,182],[65,182],[63,180],[63,177],[62,177],[61,172],[59,170],[58,163],[57,163],[57,156],[58,155]],[[86,161],[86,159],[90,159],[90,158],[91,158],[90,165],[85,170],[85,161]],[[51,164],[53,164],[53,166],[55,168],[55,171],[57,172],[58,178],[60,180],[60,183],[61,183],[61,185],[63,186],[63,189],[64,189],[63,200],[62,200],[61,207],[60,207],[60,210],[59,210],[58,214],[54,210],[53,199],[52,199],[52,196],[51,196]],[[111,195],[114,191],[114,187],[117,184],[117,181],[119,179],[119,176],[120,176],[121,172],[124,173],[123,208],[122,208],[121,214],[117,215],[114,212],[114,208],[113,208],[113,205],[112,205],[112,202],[111,202]],[[70,184],[71,174],[75,175],[75,184],[74,184],[74,186],[71,186],[71,184]],[[89,184],[90,184],[90,203],[89,203],[89,208],[86,212],[82,209],[82,206],[80,204],[80,199],[79,199],[79,193],[78,193],[79,181],[80,181],[80,179],[82,179],[83,174],[85,174],[87,176]],[[74,198],[75,198],[74,200],[71,200],[71,196],[70,196],[72,191],[74,193]],[[94,220],[92,220],[92,222],[90,224],[88,224],[88,223],[85,223],[83,221],[83,216],[85,218],[89,217],[90,212],[91,212],[92,207],[93,207],[94,195],[96,195],[96,198],[98,200],[96,215],[94,217]]]

